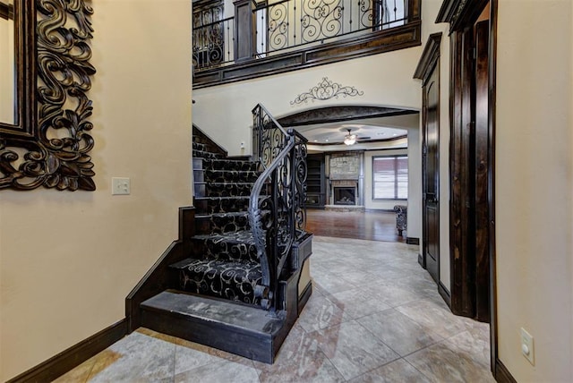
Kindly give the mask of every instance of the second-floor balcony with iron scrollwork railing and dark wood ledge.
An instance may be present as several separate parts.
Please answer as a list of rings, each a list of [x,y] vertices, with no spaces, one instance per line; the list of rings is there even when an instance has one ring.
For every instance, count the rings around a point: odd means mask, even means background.
[[[193,88],[421,44],[421,0],[237,0],[193,13]]]

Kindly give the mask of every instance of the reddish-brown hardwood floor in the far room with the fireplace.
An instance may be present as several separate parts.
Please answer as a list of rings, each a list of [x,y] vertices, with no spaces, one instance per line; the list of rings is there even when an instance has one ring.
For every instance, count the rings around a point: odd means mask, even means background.
[[[360,213],[307,209],[306,230],[329,237],[406,243],[406,236],[398,235],[396,214],[391,211],[369,210]]]

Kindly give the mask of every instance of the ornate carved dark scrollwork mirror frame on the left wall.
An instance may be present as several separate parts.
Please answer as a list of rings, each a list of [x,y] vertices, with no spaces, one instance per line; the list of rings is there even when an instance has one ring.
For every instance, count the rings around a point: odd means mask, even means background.
[[[91,7],[84,0],[19,0],[17,122],[0,123],[0,190],[94,191]]]

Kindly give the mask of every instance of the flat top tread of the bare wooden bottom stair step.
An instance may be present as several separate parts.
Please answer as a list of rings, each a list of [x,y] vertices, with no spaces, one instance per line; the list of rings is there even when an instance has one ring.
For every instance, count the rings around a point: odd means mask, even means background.
[[[141,307],[168,311],[190,320],[201,320],[213,326],[231,327],[237,331],[258,335],[273,336],[284,323],[283,319],[271,318],[268,311],[254,306],[173,290],[161,292],[141,302]]]

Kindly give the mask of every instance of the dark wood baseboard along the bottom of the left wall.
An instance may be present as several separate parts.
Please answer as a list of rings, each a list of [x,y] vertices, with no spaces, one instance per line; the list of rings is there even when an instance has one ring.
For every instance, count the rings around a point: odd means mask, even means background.
[[[108,328],[104,328],[97,334],[82,340],[77,345],[58,353],[45,362],[41,362],[30,370],[22,372],[6,383],[23,382],[46,382],[52,381],[73,370],[82,362],[87,361],[95,354],[105,350],[110,345],[123,338],[127,334],[127,320],[121,319]]]

